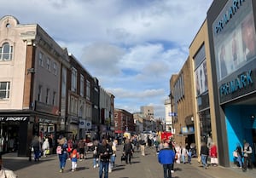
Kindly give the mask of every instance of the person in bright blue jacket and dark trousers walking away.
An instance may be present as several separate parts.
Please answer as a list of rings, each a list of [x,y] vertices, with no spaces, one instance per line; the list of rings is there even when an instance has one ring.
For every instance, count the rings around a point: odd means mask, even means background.
[[[175,152],[169,147],[168,143],[164,143],[163,149],[158,154],[158,162],[163,165],[165,178],[172,178],[172,164],[174,164]]]

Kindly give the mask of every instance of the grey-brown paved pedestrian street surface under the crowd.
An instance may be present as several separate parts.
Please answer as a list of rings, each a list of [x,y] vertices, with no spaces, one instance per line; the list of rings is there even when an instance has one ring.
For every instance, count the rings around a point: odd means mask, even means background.
[[[132,164],[121,163],[120,151],[118,147],[116,167],[109,173],[109,178],[163,178],[163,169],[157,162],[157,155],[154,149],[147,148],[146,156],[141,156],[140,152],[134,153]],[[70,170],[71,163],[67,160],[67,166],[64,173],[59,172],[59,162],[57,155],[49,155],[47,158],[41,158],[39,162],[28,161],[28,158],[16,157],[16,153],[3,155],[3,165],[8,169],[13,169],[19,178],[45,178],[45,177],[78,177],[78,178],[97,178],[98,169],[92,167],[92,158],[89,153],[88,158],[78,162],[78,171]],[[175,164],[175,173],[173,178],[252,178],[256,177],[256,169],[248,170],[246,173],[238,168],[224,168],[222,166],[203,169],[197,159],[192,159],[192,164]]]

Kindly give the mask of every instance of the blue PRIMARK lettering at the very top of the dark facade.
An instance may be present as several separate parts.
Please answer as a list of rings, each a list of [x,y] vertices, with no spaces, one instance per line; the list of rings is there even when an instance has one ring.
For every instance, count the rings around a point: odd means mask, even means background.
[[[224,26],[229,23],[230,19],[236,14],[236,11],[241,7],[241,3],[245,2],[245,0],[233,0],[232,5],[225,11],[221,20],[218,21],[215,26],[215,32],[221,32],[224,29]]]

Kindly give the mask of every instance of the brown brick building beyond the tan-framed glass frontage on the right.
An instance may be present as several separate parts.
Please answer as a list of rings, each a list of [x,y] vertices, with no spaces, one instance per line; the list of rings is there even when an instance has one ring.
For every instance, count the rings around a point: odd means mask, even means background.
[[[173,113],[174,140],[178,144],[195,143],[195,127],[192,106],[190,61],[185,61],[181,71],[170,80]]]

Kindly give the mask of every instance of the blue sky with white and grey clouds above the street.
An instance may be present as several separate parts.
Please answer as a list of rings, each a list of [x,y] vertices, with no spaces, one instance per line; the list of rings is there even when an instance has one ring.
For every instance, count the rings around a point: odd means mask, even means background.
[[[7,0],[0,16],[38,24],[67,47],[115,107],[154,106],[165,118],[169,80],[182,68],[189,44],[212,0]]]

